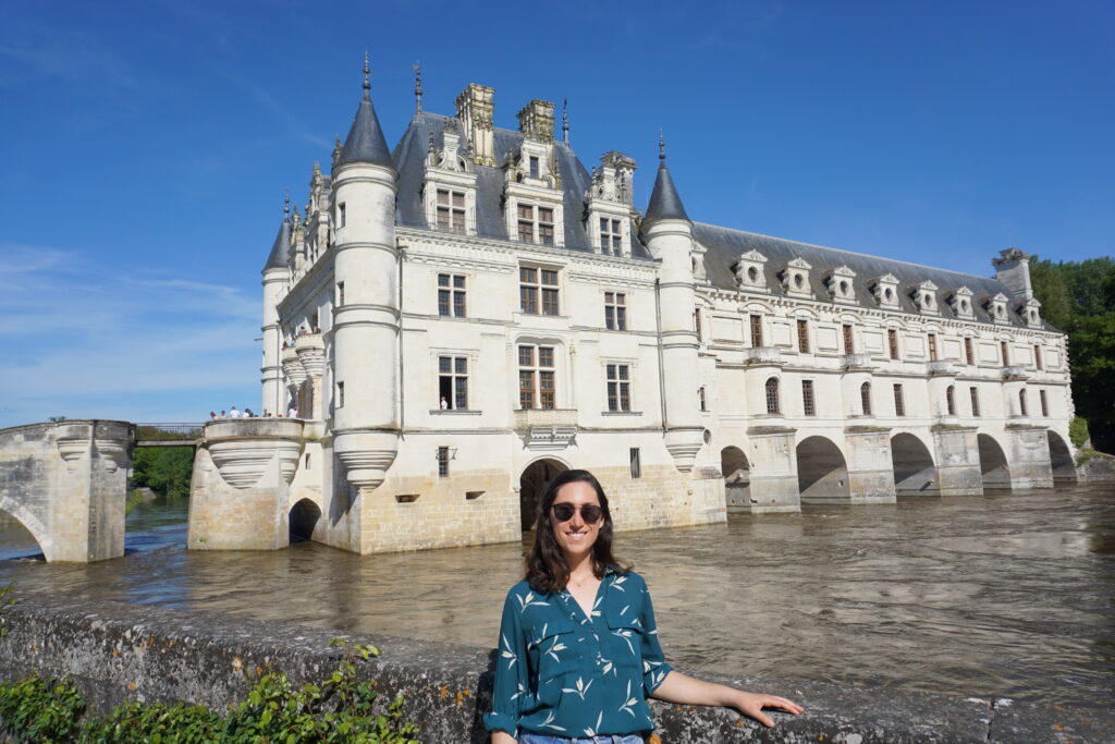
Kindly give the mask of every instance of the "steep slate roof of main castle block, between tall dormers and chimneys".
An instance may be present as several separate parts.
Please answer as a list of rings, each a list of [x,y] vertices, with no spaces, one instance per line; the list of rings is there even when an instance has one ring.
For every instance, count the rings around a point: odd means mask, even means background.
[[[443,147],[443,133],[448,122],[456,117],[421,112],[410,120],[410,125],[395,146],[394,157],[399,171],[398,199],[396,202],[396,223],[410,228],[429,228],[421,204],[421,187],[426,173],[426,153],[430,135],[434,146]],[[507,223],[503,211],[504,168],[508,152],[518,152],[523,142],[520,132],[495,128],[495,158],[497,166],[477,165],[476,173],[476,234],[483,238],[508,240]],[[462,153],[467,153],[467,143],[460,138]],[[558,170],[562,178],[565,249],[592,252],[592,244],[585,232],[584,200],[592,183],[592,176],[584,165],[562,142],[554,143],[554,154]],[[650,259],[650,253],[638,239],[633,238],[632,229],[631,255],[637,259]]]

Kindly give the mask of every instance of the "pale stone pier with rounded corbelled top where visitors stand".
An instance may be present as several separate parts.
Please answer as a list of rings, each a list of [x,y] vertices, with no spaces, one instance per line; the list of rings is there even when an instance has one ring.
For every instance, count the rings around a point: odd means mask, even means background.
[[[205,424],[190,486],[191,550],[277,550],[290,544],[290,482],[302,422],[232,418]]]

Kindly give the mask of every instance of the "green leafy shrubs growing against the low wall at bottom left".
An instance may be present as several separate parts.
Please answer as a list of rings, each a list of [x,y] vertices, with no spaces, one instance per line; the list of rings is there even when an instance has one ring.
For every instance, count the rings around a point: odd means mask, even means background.
[[[417,726],[403,721],[403,698],[377,714],[375,683],[357,677],[357,661],[378,656],[379,649],[339,639],[330,645],[345,648],[345,657],[323,682],[295,689],[287,675],[265,674],[225,716],[198,705],[129,703],[83,723],[85,700],[72,684],[33,676],[0,684],[0,719],[17,741],[46,743],[417,744]]]

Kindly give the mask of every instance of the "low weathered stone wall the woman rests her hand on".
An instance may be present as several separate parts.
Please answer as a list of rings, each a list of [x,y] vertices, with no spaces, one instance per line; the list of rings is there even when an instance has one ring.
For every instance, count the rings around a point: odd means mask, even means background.
[[[405,716],[420,741],[481,744],[494,651],[382,636],[340,634],[284,624],[77,597],[17,592],[0,639],[0,677],[31,670],[68,675],[97,709],[124,700],[188,700],[224,708],[243,698],[271,667],[293,680],[322,676],[340,657],[339,635],[379,646],[365,669],[380,700],[407,698]],[[663,744],[714,742],[1112,742],[1111,709],[1043,707],[812,682],[701,674],[716,682],[782,694],[806,707],[798,718],[774,714],[767,729],[734,712],[656,703]]]

